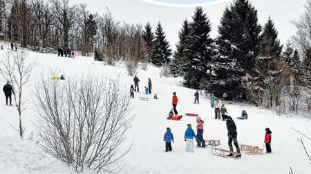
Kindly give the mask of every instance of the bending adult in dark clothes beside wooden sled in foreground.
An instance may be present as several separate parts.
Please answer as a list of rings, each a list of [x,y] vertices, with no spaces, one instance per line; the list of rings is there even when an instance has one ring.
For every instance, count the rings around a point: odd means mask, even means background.
[[[239,155],[236,155],[236,157],[241,157],[241,151],[240,147],[238,146],[238,133],[236,132],[236,124],[234,123],[234,120],[230,116],[223,115],[223,118],[226,121],[227,124],[227,130],[228,130],[228,145],[230,148],[230,151],[233,151],[232,147],[232,141],[234,142],[234,146],[236,146],[236,152],[240,153]],[[227,156],[232,156],[233,154],[230,153]]]

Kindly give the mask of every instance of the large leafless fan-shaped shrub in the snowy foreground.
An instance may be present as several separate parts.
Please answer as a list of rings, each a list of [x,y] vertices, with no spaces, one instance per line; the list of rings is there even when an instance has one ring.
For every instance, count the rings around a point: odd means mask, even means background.
[[[49,76],[57,76],[55,72]],[[119,151],[134,119],[119,78],[82,74],[65,82],[41,74],[32,96],[41,149],[76,171],[87,166],[97,173],[110,172],[106,168],[129,152],[131,147]]]

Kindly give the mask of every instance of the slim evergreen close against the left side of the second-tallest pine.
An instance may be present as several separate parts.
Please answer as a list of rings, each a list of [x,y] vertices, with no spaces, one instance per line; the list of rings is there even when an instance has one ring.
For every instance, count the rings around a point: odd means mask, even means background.
[[[173,58],[169,63],[171,74],[178,76],[181,74],[181,65],[186,63],[185,50],[187,49],[186,39],[190,34],[189,22],[187,19],[182,23],[182,29],[178,33],[179,41],[176,44],[176,51],[173,54]]]

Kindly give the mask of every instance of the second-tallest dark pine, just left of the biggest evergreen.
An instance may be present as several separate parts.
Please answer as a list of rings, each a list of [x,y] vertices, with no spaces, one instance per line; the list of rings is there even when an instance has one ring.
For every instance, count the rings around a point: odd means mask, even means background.
[[[211,23],[202,7],[196,8],[190,23],[190,33],[186,38],[187,50],[184,51],[185,64],[182,65],[184,72],[184,85],[198,89],[202,79],[207,79],[207,70],[213,57],[214,41],[209,36]]]

